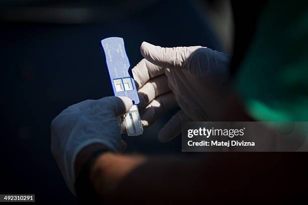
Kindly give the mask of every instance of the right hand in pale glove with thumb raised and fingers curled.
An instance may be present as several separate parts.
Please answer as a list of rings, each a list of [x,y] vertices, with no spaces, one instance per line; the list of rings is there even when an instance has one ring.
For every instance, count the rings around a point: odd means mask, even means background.
[[[133,69],[141,120],[151,125],[166,111],[181,110],[159,132],[168,142],[181,133],[182,122],[219,121],[230,57],[206,47],[162,48],[143,42],[142,59]]]

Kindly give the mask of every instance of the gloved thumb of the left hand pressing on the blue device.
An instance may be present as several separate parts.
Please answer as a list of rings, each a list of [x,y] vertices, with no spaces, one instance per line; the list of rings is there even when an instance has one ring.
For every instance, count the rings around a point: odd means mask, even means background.
[[[111,109],[116,116],[121,116],[127,113],[132,107],[132,101],[124,96],[109,96],[97,100],[97,103],[103,109]]]

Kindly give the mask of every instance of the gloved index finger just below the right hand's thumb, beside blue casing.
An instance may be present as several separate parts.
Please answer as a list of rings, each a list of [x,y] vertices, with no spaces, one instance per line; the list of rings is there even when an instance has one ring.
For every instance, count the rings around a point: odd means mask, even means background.
[[[142,59],[135,67],[132,68],[132,73],[136,82],[136,87],[139,89],[149,79],[164,74],[165,69],[150,63],[146,59]]]

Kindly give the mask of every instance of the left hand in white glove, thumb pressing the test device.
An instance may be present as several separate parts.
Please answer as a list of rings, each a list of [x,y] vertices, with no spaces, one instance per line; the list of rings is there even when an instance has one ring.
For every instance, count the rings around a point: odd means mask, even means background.
[[[86,146],[101,143],[119,151],[120,116],[127,113],[132,101],[127,97],[103,97],[85,100],[63,110],[51,123],[51,152],[64,180],[74,191],[74,161]]]

